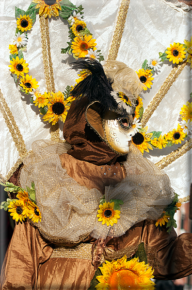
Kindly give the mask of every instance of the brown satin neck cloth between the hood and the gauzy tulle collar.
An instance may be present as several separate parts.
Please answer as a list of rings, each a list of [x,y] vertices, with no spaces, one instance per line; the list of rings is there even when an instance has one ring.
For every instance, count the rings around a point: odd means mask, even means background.
[[[87,188],[97,188],[104,193],[105,186],[115,185],[126,176],[126,172],[120,163],[112,165],[95,165],[81,161],[64,153],[60,156],[62,167],[75,181]]]

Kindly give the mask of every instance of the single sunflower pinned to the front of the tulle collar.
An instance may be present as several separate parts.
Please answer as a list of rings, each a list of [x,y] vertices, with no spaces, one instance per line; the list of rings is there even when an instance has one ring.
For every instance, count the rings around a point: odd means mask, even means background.
[[[98,221],[102,221],[102,224],[107,224],[107,226],[113,226],[114,223],[117,223],[117,218],[120,218],[120,211],[114,210],[114,202],[104,202],[99,205],[98,209]]]

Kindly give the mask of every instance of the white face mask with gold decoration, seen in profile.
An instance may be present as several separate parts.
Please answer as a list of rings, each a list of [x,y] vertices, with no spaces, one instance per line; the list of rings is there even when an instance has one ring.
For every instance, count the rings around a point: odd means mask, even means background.
[[[129,151],[129,141],[135,135],[132,128],[126,126],[121,120],[105,120],[104,131],[108,144],[118,153],[127,154]]]

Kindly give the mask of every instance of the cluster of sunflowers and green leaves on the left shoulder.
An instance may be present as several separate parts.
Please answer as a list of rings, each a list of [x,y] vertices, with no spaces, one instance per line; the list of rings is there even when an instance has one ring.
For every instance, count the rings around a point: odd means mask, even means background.
[[[25,221],[26,218],[32,220],[32,222],[38,223],[41,221],[41,212],[35,201],[35,185],[32,182],[32,188],[26,186],[27,191],[19,186],[14,185],[11,182],[6,181],[5,184],[0,182],[0,185],[4,186],[5,191],[17,193],[17,199],[7,199],[0,203],[0,209],[8,210],[10,216],[16,220],[16,222]]]

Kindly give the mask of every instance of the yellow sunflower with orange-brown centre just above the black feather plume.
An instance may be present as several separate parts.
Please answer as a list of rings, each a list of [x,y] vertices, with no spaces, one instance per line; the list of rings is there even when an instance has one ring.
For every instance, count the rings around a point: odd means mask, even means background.
[[[85,57],[88,53],[88,49],[92,48],[93,51],[96,50],[96,39],[92,39],[92,36],[77,36],[72,41],[71,48],[73,49],[72,53],[78,57]]]

